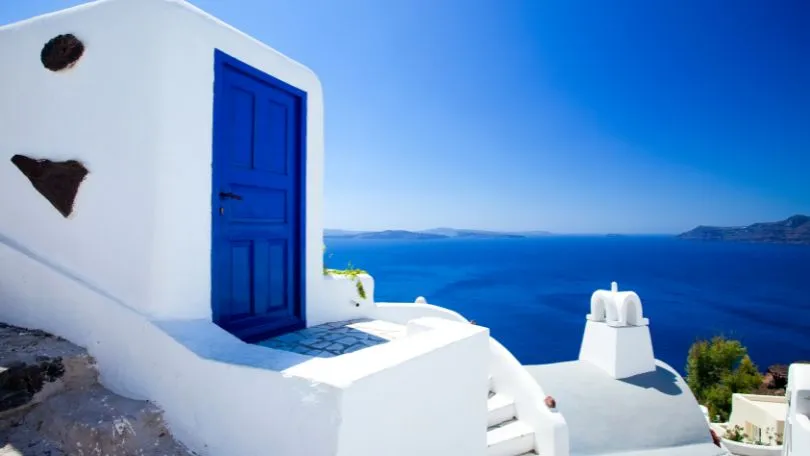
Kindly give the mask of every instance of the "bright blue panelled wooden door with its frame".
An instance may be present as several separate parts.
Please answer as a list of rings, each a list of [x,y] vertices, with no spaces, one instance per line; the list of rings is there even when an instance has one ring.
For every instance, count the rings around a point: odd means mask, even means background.
[[[217,50],[211,302],[252,342],[303,328],[306,93]]]

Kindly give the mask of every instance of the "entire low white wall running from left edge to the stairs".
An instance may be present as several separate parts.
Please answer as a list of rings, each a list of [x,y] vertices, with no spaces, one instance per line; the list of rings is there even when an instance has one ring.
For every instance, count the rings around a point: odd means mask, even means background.
[[[483,456],[488,331],[438,326],[336,358],[154,322],[0,244],[0,321],[87,348],[111,390],[149,399],[203,455]]]

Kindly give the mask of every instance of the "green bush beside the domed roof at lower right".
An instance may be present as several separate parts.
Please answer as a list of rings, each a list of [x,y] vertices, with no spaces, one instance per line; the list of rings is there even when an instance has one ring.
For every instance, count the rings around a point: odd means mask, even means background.
[[[717,336],[689,348],[686,383],[698,402],[709,408],[710,416],[726,421],[732,394],[753,392],[762,384],[762,376],[739,341]]]

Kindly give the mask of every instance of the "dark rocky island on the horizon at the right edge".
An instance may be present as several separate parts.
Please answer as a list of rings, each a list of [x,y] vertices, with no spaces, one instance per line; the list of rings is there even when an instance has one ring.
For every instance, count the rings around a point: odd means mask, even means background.
[[[780,222],[762,222],[740,227],[699,226],[677,237],[701,241],[810,245],[810,216],[794,215]]]

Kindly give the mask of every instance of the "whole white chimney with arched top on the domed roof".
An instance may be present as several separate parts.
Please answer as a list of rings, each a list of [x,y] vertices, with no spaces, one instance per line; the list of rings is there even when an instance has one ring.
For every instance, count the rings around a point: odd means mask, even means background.
[[[655,371],[650,321],[644,318],[636,293],[620,292],[616,282],[610,290],[596,290],[586,320],[580,361],[617,379]]]

